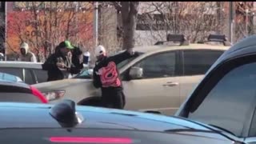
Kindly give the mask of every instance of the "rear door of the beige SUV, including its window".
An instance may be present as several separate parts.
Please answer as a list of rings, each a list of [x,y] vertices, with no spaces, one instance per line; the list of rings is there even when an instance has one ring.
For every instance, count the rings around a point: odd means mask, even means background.
[[[182,50],[181,104],[223,52],[224,50]]]

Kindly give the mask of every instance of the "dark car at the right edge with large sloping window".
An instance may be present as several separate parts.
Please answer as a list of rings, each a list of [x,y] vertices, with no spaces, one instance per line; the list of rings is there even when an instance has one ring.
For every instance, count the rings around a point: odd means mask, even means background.
[[[256,143],[256,35],[222,54],[175,115]]]

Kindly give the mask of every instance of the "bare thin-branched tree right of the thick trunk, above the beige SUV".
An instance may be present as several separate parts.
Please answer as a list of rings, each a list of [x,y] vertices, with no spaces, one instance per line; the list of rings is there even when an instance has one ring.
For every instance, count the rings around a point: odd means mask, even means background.
[[[138,26],[144,26],[141,33],[151,37],[150,44],[166,40],[167,34],[185,34],[190,42],[197,42],[225,26],[217,21],[216,11],[222,7],[216,2],[142,2],[141,6]]]

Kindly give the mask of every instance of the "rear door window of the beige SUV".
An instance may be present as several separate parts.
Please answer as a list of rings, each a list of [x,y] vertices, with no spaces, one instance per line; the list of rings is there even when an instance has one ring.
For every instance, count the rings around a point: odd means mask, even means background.
[[[210,66],[223,54],[217,50],[185,50],[183,51],[184,75],[206,74]]]

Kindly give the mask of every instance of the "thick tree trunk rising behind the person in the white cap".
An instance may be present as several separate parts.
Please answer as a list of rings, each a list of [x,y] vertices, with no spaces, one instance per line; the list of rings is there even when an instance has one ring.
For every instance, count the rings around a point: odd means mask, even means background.
[[[139,2],[121,2],[123,45],[122,49],[127,50],[135,45],[134,33],[136,28]]]

